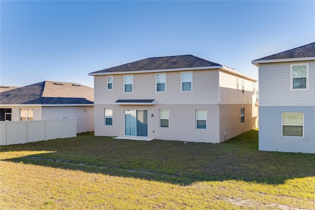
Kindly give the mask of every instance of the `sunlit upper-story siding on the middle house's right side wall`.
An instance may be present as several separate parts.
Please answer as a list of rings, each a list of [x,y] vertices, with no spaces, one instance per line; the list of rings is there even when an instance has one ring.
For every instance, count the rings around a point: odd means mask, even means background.
[[[242,92],[242,77],[239,77],[240,90],[237,89],[237,75],[225,71],[220,71],[220,104],[247,104],[254,103],[253,82],[244,79],[244,90]]]

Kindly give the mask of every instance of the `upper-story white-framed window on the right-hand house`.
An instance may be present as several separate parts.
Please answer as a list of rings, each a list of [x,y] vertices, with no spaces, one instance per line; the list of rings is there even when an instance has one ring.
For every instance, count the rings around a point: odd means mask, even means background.
[[[309,63],[290,64],[290,90],[309,90]]]

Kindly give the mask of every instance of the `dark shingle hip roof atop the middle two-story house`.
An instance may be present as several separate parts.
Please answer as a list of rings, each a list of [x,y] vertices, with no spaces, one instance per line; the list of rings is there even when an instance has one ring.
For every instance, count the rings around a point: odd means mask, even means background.
[[[193,55],[185,56],[168,56],[158,58],[148,58],[138,60],[123,65],[103,69],[94,73],[110,73],[110,72],[128,72],[128,71],[147,71],[147,70],[162,70],[176,68],[193,68],[193,67],[208,67],[222,66],[209,60],[201,59]]]

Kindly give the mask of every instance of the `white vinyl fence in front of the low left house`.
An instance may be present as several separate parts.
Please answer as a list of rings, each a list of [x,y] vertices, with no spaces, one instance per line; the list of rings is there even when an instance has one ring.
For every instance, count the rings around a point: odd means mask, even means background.
[[[0,122],[0,145],[24,144],[76,136],[77,121],[75,118]]]

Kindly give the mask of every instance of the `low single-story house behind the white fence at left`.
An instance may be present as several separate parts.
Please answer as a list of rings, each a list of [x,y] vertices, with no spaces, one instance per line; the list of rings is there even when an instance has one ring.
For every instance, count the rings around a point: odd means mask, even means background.
[[[77,132],[94,131],[94,90],[77,83],[44,81],[0,93],[0,120],[76,118]]]

